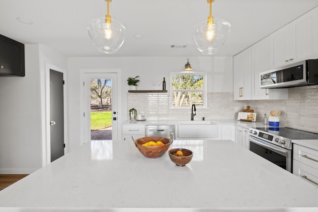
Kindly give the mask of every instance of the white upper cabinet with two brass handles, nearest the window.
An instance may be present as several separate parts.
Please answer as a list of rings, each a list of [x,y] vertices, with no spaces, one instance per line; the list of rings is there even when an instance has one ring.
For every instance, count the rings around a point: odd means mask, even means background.
[[[234,56],[234,100],[251,99],[251,47]]]

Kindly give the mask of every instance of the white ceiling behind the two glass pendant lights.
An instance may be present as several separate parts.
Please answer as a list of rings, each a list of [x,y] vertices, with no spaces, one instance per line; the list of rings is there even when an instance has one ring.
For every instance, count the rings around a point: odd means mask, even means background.
[[[43,44],[67,57],[204,56],[191,32],[209,16],[207,0],[112,0],[110,5],[112,18],[127,30],[114,55],[99,53],[86,29],[91,19],[106,14],[104,0],[0,0],[0,34],[24,44]],[[318,0],[215,0],[214,18],[232,25],[216,56],[236,55],[316,6]],[[143,38],[134,38],[136,33]],[[171,49],[171,44],[187,47]]]

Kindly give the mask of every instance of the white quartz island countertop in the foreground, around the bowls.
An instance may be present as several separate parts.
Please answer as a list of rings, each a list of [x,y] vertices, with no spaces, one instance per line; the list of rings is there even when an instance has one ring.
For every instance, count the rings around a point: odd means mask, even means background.
[[[2,212],[317,212],[318,189],[232,141],[173,141],[184,167],[91,141],[0,191]],[[171,148],[170,147],[170,148]]]

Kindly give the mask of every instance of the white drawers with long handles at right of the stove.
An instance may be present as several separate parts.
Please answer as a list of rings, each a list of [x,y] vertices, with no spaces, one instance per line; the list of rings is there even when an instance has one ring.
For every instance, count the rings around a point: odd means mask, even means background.
[[[318,151],[294,144],[293,174],[318,187]]]

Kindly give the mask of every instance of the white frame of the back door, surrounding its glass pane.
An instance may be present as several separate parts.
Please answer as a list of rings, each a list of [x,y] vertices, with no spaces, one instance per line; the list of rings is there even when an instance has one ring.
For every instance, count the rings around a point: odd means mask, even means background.
[[[98,72],[83,74],[84,91],[84,143],[91,141],[91,117],[90,117],[90,80],[108,79],[111,81],[111,140],[118,139],[118,106],[117,106],[117,73]]]

